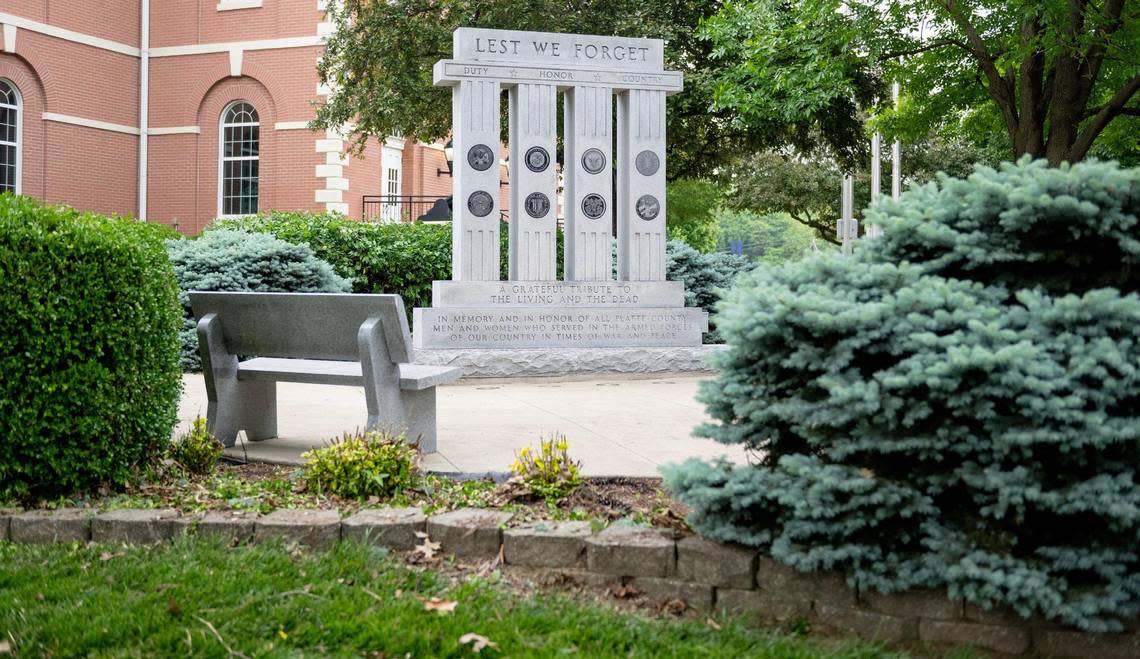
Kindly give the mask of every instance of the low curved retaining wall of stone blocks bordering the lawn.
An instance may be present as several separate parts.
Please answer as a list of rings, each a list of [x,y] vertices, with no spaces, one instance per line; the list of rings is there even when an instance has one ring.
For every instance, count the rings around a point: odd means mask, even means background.
[[[410,550],[426,532],[447,554],[553,571],[586,585],[620,584],[656,601],[683,600],[694,609],[725,611],[760,625],[801,619],[844,634],[889,643],[922,641],[1058,658],[1140,657],[1140,632],[1086,634],[1009,611],[987,611],[943,593],[882,595],[856,592],[834,573],[804,573],[755,550],[699,537],[675,539],[657,529],[588,522],[531,522],[505,528],[511,514],[463,509],[432,516],[418,509],[372,509],[341,519],[332,510],[278,510],[268,515],[174,510],[0,511],[0,540],[146,544],[184,532],[233,542],[279,538],[327,548],[342,537]],[[628,592],[628,591],[627,591]]]

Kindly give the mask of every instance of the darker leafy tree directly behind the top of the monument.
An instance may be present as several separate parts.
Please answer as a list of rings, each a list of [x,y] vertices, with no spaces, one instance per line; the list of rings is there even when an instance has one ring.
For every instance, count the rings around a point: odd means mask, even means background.
[[[736,154],[795,144],[855,143],[861,123],[783,116],[734,120],[712,107],[720,60],[698,25],[722,7],[702,0],[344,0],[333,3],[336,26],[318,64],[334,93],[318,107],[318,128],[352,127],[351,140],[404,135],[434,140],[451,128],[450,91],[432,86],[432,65],[451,56],[458,26],[650,36],[666,42],[666,68],[685,74],[684,91],[668,99],[670,180],[706,176]],[[847,101],[836,101],[844,106]],[[561,112],[561,109],[560,109]],[[505,116],[504,116],[505,122]],[[506,135],[504,130],[503,135]]]

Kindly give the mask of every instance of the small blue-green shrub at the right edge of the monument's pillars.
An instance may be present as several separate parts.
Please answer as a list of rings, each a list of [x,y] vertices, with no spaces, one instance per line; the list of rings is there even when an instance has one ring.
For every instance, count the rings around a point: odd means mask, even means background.
[[[665,269],[669,279],[685,284],[685,307],[700,307],[711,312],[722,293],[731,288],[736,277],[751,267],[748,259],[736,254],[702,254],[681,241],[665,244]],[[710,317],[705,343],[722,342],[716,330],[716,317]]]

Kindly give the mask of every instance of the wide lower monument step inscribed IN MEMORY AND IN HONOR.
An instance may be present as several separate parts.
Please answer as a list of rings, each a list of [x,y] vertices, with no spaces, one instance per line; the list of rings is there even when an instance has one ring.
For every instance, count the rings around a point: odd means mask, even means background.
[[[415,310],[416,348],[619,348],[700,344],[695,308]]]

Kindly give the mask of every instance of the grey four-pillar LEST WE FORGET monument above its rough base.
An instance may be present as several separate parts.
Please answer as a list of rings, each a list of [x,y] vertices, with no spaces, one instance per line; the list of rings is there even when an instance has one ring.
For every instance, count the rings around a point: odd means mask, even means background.
[[[701,345],[708,315],[686,308],[683,285],[665,272],[665,97],[682,89],[682,75],[663,70],[662,41],[461,27],[454,56],[434,68],[435,84],[453,90],[453,280],[434,282],[432,306],[415,309],[416,349]],[[507,280],[499,279],[503,90],[512,163]]]

